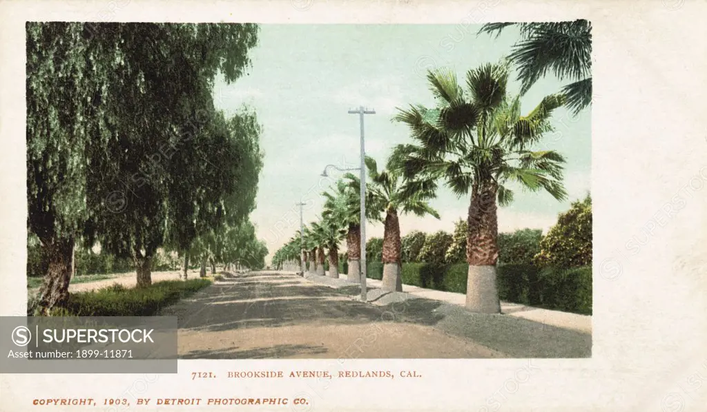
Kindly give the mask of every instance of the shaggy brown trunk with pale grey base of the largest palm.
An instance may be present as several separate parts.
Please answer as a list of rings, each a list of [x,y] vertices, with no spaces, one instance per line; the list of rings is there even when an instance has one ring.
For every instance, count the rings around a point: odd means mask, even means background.
[[[496,286],[498,261],[497,186],[474,185],[467,222],[467,300],[469,310],[479,313],[501,313]]]

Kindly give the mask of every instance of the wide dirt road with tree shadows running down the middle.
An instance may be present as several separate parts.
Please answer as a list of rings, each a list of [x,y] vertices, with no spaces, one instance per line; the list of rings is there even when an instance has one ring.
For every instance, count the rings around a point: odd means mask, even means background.
[[[356,302],[350,292],[253,272],[216,282],[160,315],[179,317],[181,358],[505,357],[424,317]]]

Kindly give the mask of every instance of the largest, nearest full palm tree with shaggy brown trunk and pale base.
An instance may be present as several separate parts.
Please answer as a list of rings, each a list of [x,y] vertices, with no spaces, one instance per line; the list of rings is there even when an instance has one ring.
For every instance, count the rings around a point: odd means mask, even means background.
[[[406,176],[443,179],[458,196],[471,191],[467,217],[467,308],[499,313],[496,289],[498,260],[497,202],[513,200],[508,183],[546,190],[563,200],[563,157],[530,147],[551,131],[551,112],[563,95],[542,99],[527,116],[520,115],[520,98],[506,96],[508,65],[487,64],[467,73],[467,90],[452,71],[428,73],[438,107],[399,109],[397,121],[407,123],[416,145],[399,145],[393,157]]]

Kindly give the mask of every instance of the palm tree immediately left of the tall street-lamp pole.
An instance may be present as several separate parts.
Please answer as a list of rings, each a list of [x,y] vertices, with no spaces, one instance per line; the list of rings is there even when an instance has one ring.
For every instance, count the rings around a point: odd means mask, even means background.
[[[349,272],[347,280],[361,281],[361,195],[360,183],[337,181],[334,193],[323,193],[326,198],[322,218],[341,222],[346,227],[346,249]]]

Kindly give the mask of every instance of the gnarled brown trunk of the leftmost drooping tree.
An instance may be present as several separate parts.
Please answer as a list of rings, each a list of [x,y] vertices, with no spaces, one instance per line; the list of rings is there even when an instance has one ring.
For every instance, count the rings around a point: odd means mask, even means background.
[[[69,281],[74,273],[74,239],[42,241],[42,258],[49,262],[37,308],[47,316],[53,308],[66,305],[69,299]]]

